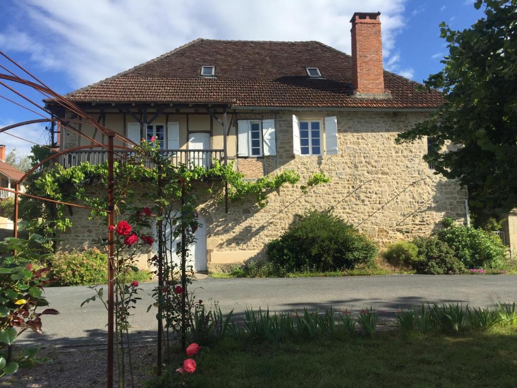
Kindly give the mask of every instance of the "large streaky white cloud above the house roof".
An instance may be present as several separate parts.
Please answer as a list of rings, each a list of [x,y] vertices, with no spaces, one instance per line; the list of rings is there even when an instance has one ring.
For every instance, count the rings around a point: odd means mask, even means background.
[[[384,56],[405,26],[407,0],[23,0],[31,35],[13,24],[0,35],[0,47],[31,55],[34,65],[63,71],[74,87],[83,86],[159,56],[195,38],[320,40],[351,52],[354,11],[382,12]],[[25,31],[25,28],[24,28]]]

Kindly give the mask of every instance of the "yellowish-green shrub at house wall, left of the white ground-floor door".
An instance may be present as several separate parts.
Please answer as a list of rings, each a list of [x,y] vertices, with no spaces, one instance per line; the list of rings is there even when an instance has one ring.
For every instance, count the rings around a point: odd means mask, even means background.
[[[97,248],[57,253],[51,261],[59,286],[101,284],[108,279],[108,256]]]

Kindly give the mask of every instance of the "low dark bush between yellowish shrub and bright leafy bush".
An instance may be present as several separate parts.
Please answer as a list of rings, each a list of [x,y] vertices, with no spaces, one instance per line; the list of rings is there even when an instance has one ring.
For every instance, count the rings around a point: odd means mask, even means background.
[[[462,274],[465,266],[455,256],[446,242],[436,237],[417,237],[413,240],[418,248],[418,260],[414,263],[414,269],[421,274],[443,275]]]

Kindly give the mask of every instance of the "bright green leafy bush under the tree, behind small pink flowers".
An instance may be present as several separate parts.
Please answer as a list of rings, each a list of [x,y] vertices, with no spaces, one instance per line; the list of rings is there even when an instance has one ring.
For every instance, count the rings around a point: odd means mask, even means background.
[[[444,228],[436,236],[454,249],[465,267],[497,268],[506,262],[507,248],[494,233],[455,225],[451,218],[445,218],[442,223]]]

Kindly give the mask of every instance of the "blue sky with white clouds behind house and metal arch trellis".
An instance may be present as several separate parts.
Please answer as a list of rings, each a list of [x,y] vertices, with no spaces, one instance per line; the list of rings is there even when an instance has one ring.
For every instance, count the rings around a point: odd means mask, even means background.
[[[439,23],[468,28],[482,17],[473,4],[474,0],[0,0],[0,50],[64,94],[196,38],[318,40],[351,53],[352,14],[381,11],[385,68],[421,82],[442,69],[440,60],[447,54]],[[0,65],[6,66],[3,59]],[[28,105],[2,85],[0,96]],[[39,102],[42,97],[31,93],[31,98]],[[0,98],[0,127],[34,118],[39,116]],[[32,144],[26,140],[48,142],[44,125],[9,132],[24,140],[0,133],[0,144],[6,144],[8,152],[16,148],[19,155],[30,152]]]

